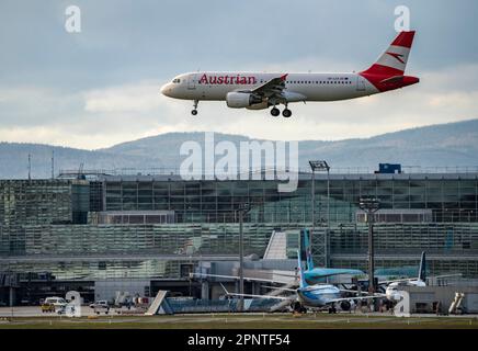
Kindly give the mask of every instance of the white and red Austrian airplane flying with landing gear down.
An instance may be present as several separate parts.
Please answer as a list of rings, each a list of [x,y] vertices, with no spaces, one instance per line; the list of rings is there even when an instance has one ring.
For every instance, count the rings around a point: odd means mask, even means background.
[[[289,103],[339,101],[368,97],[416,84],[417,77],[403,76],[414,31],[400,32],[391,45],[369,68],[360,72],[268,73],[197,71],[174,77],[161,87],[166,97],[192,100],[193,115],[200,101],[226,101],[231,109],[265,110],[271,115],[291,117]]]

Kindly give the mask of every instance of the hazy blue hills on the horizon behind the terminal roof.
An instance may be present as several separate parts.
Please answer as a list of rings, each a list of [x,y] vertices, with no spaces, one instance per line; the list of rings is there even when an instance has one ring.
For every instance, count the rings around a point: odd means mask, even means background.
[[[0,178],[26,178],[29,154],[32,155],[32,177],[50,177],[52,151],[55,168],[138,169],[179,168],[182,143],[204,144],[204,133],[168,133],[122,143],[110,148],[82,150],[38,144],[0,143]],[[215,141],[229,140],[239,145],[247,136],[215,134]],[[379,162],[403,166],[463,167],[478,166],[478,120],[432,125],[388,133],[371,138],[338,141],[299,141],[299,166],[309,159],[326,159],[333,169],[361,168],[372,171]]]

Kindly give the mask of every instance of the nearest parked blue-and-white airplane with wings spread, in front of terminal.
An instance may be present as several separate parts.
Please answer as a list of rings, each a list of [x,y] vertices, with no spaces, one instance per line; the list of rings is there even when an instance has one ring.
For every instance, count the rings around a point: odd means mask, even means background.
[[[304,271],[301,268],[300,250],[297,250],[297,272],[299,274],[299,286],[298,288],[282,288],[278,290],[294,292],[291,296],[276,296],[276,295],[255,295],[255,294],[237,294],[229,293],[223,285],[227,295],[231,296],[244,296],[252,298],[272,298],[280,299],[283,302],[289,302],[291,307],[296,313],[306,313],[307,309],[323,309],[328,308],[329,313],[337,313],[335,305],[338,304],[342,310],[350,310],[358,299],[374,299],[382,298],[383,295],[366,295],[366,296],[352,296],[342,297],[342,293],[353,293],[357,294],[356,291],[339,288],[332,284],[312,284],[309,285],[305,279]]]

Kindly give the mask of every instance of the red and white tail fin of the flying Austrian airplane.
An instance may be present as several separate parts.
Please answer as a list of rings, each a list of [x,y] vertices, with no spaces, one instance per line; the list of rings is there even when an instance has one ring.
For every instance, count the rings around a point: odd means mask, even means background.
[[[361,73],[379,76],[384,79],[403,76],[413,36],[414,31],[400,32],[377,61]]]

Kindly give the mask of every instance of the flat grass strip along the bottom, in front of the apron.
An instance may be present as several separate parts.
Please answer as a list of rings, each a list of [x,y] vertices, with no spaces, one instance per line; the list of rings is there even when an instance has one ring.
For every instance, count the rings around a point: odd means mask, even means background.
[[[478,329],[476,317],[291,314],[2,318],[0,329]]]

